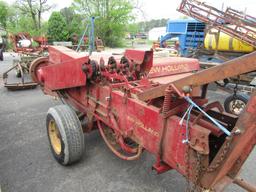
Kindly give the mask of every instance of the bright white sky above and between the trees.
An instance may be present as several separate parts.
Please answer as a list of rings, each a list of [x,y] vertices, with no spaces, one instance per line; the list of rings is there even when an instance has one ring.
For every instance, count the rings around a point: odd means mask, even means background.
[[[15,0],[4,0],[8,3],[15,2]],[[48,0],[49,3],[54,3],[56,6],[54,10],[60,10],[64,7],[71,5],[72,0]],[[204,0],[207,4],[212,5],[216,8],[221,9],[222,4],[224,7],[232,7],[234,9],[244,11],[246,13],[255,16],[256,3],[255,0]],[[144,14],[141,14],[140,11],[136,11],[138,15],[137,20],[150,20],[150,19],[162,19],[170,18],[177,19],[182,14],[176,11],[181,0],[139,0],[139,7],[143,10]],[[48,19],[50,13],[44,14],[44,19]]]

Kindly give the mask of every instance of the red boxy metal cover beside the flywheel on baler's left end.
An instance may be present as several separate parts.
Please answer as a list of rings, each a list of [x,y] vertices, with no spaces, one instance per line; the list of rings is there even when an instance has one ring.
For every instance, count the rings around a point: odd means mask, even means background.
[[[86,85],[86,75],[81,69],[88,62],[88,56],[70,52],[66,47],[50,47],[49,55],[49,65],[38,71],[38,78],[47,89],[55,91]]]

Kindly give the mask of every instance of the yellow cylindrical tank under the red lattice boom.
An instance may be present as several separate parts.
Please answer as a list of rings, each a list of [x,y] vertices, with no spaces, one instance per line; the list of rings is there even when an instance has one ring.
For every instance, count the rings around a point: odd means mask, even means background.
[[[228,51],[228,52],[241,52],[250,53],[255,49],[254,47],[237,40],[225,33],[220,32],[219,34],[219,45],[217,46],[218,31],[210,30],[206,33],[204,39],[204,47],[206,50],[217,50],[217,51]]]

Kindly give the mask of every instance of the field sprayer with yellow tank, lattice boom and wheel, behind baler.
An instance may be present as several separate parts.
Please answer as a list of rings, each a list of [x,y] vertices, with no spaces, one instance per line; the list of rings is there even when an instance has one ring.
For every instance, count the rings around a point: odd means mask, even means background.
[[[221,11],[197,0],[182,0],[178,11],[206,24],[204,47],[193,53],[202,61],[202,68],[255,51],[256,18],[232,8]],[[225,91],[233,90],[224,106],[227,112],[239,115],[256,88],[256,76],[252,72],[216,83]]]

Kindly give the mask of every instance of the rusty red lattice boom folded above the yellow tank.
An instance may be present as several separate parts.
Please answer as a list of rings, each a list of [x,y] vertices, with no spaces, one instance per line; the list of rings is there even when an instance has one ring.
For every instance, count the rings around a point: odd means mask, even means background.
[[[182,0],[178,11],[248,45],[256,46],[256,18],[252,16],[231,8],[221,11],[197,0]]]

